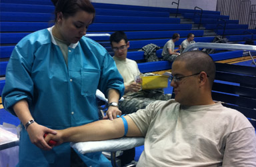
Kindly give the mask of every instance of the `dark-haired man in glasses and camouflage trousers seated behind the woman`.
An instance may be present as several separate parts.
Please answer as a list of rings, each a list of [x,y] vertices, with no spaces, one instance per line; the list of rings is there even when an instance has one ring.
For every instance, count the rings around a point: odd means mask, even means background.
[[[123,114],[136,112],[155,100],[169,100],[171,98],[171,94],[164,94],[162,88],[141,90],[141,85],[135,83],[135,77],[141,72],[135,61],[127,59],[127,50],[130,44],[123,31],[113,33],[110,37],[110,43],[115,53],[113,59],[125,84],[124,100],[119,102],[119,110]]]

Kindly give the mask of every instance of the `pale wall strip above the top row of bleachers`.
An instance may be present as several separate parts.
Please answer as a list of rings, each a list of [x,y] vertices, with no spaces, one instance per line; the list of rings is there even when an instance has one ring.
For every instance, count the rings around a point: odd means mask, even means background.
[[[178,0],[91,0],[97,3],[113,3],[122,5],[139,5],[139,6],[149,6],[149,7],[170,7],[177,8],[176,4],[171,5],[171,3],[178,2]],[[256,1],[256,0],[255,0]],[[207,11],[216,11],[217,0],[180,0],[180,9],[194,9],[195,7],[200,7]]]

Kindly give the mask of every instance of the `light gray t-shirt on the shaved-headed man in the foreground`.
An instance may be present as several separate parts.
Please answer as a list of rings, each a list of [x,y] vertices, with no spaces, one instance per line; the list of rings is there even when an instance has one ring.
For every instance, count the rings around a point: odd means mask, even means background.
[[[145,136],[137,166],[256,166],[255,129],[221,102],[157,101],[129,114]]]

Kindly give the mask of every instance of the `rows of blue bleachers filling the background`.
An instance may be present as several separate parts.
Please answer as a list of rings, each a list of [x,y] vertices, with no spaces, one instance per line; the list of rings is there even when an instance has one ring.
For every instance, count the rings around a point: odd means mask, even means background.
[[[89,26],[90,33],[113,33],[114,31],[125,31],[130,41],[127,57],[135,61],[143,61],[143,52],[138,51],[143,46],[154,43],[163,47],[171,39],[173,33],[179,33],[181,39],[175,43],[180,45],[186,39],[188,33],[195,34],[196,42],[210,43],[214,36],[205,36],[204,30],[193,29],[191,23],[181,23],[180,18],[171,18],[169,15],[176,13],[176,8],[164,7],[142,7],[135,5],[117,5],[107,3],[93,3],[96,10],[95,21]],[[1,77],[5,75],[6,65],[11,55],[13,47],[23,37],[53,25],[54,7],[50,0],[2,0],[0,6],[0,59]],[[184,18],[190,18],[195,24],[199,23],[201,11],[193,9],[179,9],[178,13]],[[219,11],[203,10],[202,25],[205,30],[214,30],[217,35],[222,35],[223,21],[225,19],[227,27],[225,37],[230,42],[243,42],[247,38],[251,39],[251,33],[255,30],[248,30],[248,25],[239,25],[238,21],[229,20],[229,16],[221,15]],[[196,14],[196,15],[195,15]],[[245,33],[249,31],[250,33]],[[91,37],[103,45],[111,53],[109,37]],[[253,39],[255,37],[253,36]],[[256,40],[256,39],[255,39]],[[161,58],[161,51],[157,51],[157,56]],[[225,53],[215,53],[211,55],[215,61],[241,57],[241,51],[229,51]],[[171,63],[159,61],[153,63],[138,63],[141,72],[162,71],[171,69]],[[4,80],[1,80],[1,86]],[[1,88],[0,86],[0,88]]]

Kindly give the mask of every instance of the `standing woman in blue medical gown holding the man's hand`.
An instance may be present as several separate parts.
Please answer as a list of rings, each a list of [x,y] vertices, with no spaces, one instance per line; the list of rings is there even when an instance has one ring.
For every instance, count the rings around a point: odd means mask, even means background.
[[[84,37],[95,17],[91,2],[53,3],[55,25],[21,39],[7,65],[3,105],[23,124],[18,166],[111,166],[101,152],[82,155],[69,143],[53,148],[44,140],[53,129],[99,120],[97,88],[109,99],[105,118],[113,120],[124,92],[111,55]]]

